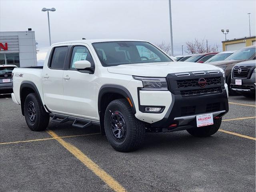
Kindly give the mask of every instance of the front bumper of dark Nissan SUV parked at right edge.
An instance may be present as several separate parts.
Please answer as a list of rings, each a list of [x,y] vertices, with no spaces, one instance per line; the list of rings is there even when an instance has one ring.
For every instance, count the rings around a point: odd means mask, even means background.
[[[252,73],[250,79],[242,79],[242,85],[236,85],[236,79],[231,79],[230,88],[240,93],[254,93],[255,94],[255,73]]]

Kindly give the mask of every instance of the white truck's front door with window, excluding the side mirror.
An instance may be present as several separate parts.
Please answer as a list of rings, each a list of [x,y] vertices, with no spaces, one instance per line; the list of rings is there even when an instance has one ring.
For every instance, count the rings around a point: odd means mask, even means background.
[[[87,44],[71,44],[67,70],[63,74],[65,112],[97,120],[95,57]],[[88,60],[94,70],[76,70],[74,62]]]

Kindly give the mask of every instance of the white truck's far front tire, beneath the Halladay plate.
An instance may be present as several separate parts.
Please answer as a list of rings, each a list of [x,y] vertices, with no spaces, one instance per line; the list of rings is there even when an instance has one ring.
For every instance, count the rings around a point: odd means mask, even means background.
[[[191,129],[188,129],[187,132],[191,134],[192,136],[196,137],[208,137],[213,134],[215,134],[221,125],[222,118],[214,119],[214,124],[204,127],[194,127]]]

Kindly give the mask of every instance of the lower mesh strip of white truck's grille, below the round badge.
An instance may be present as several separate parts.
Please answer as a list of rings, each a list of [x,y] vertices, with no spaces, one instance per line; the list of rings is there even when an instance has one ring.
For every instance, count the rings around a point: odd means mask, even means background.
[[[180,91],[180,93],[181,93],[182,97],[221,93],[221,87],[212,87],[212,88],[204,88],[204,89],[192,89],[192,90],[182,90],[182,91]]]

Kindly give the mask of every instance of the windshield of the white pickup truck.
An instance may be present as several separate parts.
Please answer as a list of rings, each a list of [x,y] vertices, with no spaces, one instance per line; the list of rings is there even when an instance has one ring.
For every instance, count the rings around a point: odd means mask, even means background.
[[[172,61],[148,42],[100,42],[92,45],[103,66]]]

